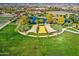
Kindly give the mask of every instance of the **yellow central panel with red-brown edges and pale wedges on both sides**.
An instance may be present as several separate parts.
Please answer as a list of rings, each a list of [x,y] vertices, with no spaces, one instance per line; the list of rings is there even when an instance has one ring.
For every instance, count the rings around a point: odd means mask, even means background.
[[[47,25],[36,24],[36,25],[33,25],[32,28],[26,32],[26,34],[28,34],[30,32],[31,33],[55,33],[56,30],[51,28],[49,24],[47,24]]]

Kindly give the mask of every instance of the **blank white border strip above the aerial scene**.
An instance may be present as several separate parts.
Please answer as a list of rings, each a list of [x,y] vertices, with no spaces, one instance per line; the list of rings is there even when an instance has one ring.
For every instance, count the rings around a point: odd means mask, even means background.
[[[79,0],[1,0],[0,3],[79,3]]]

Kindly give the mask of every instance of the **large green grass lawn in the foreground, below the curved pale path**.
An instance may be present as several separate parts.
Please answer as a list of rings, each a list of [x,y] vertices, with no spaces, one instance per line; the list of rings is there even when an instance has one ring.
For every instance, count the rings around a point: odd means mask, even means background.
[[[64,32],[55,37],[33,38],[15,31],[15,22],[0,30],[0,55],[79,55],[79,35]]]

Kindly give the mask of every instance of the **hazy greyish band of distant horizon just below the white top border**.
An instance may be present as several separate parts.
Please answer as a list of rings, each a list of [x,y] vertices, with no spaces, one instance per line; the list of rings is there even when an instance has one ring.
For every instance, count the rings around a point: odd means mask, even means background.
[[[6,7],[6,6],[40,6],[40,7],[45,7],[45,6],[60,6],[60,7],[65,7],[65,6],[79,6],[78,3],[0,3],[0,7]]]

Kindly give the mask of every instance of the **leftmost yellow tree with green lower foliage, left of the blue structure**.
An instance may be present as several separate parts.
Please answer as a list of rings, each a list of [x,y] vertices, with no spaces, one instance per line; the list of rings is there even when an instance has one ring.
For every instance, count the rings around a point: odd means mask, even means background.
[[[18,20],[18,26],[16,30],[26,31],[28,30],[28,19],[25,15],[21,16]]]

